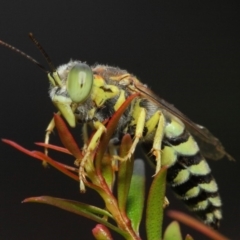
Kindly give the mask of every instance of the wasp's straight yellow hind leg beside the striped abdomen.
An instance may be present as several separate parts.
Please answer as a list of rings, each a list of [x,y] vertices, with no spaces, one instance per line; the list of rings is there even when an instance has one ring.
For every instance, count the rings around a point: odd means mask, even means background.
[[[161,146],[165,126],[165,118],[163,114],[160,111],[158,113],[159,113],[158,126],[153,140],[153,147],[151,150],[152,154],[156,157],[157,166],[155,173],[158,173],[158,171],[161,169]]]

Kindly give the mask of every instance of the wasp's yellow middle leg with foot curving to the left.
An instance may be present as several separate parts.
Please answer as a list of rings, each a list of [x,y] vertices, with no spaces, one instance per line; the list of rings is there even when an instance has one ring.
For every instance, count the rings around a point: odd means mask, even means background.
[[[137,144],[138,144],[140,138],[142,137],[143,129],[144,129],[144,125],[145,125],[145,119],[146,119],[146,110],[144,108],[140,108],[140,114],[137,119],[136,131],[135,131],[135,136],[134,136],[134,141],[132,143],[132,146],[129,149],[128,154],[125,157],[120,158],[119,156],[114,156],[115,159],[117,159],[119,161],[127,161],[128,159],[131,158],[131,156],[133,155],[133,153],[137,147]]]

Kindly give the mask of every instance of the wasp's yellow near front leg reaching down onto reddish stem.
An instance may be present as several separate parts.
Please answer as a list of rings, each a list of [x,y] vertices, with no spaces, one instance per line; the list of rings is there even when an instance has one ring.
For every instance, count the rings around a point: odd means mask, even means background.
[[[75,163],[77,163],[77,165],[79,166],[79,181],[80,181],[81,192],[86,191],[85,185],[84,185],[84,181],[86,179],[86,173],[84,171],[85,164],[88,161],[89,157],[91,156],[92,152],[98,146],[98,143],[100,141],[102,134],[106,131],[105,126],[99,121],[93,122],[93,126],[97,131],[94,133],[93,137],[91,138],[90,143],[86,148],[84,157],[81,159],[81,161],[79,160],[75,161]]]

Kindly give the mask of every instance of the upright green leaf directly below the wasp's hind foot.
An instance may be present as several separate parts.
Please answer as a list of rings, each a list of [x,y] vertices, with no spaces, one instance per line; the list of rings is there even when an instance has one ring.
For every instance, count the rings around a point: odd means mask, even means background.
[[[146,232],[149,240],[162,238],[166,175],[167,169],[163,167],[154,177],[150,187],[146,211]]]

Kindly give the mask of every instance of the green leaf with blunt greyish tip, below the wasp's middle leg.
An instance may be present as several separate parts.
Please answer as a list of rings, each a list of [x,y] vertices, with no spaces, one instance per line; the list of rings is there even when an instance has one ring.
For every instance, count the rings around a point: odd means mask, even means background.
[[[132,228],[139,233],[142,220],[145,198],[145,167],[141,159],[134,161],[133,175],[127,199],[127,215],[132,223]]]

